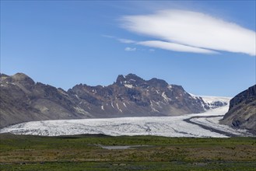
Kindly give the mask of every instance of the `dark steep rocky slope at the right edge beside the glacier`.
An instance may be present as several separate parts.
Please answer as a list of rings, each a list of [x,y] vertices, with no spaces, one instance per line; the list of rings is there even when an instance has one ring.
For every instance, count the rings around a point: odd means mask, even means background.
[[[230,109],[220,121],[237,128],[247,128],[256,133],[256,85],[230,100]]]

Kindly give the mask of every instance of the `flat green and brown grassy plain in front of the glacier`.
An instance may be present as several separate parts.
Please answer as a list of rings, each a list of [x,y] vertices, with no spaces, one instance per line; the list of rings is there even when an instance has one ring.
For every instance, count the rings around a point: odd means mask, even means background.
[[[149,145],[108,150],[97,145]],[[0,170],[255,170],[256,138],[0,134]]]

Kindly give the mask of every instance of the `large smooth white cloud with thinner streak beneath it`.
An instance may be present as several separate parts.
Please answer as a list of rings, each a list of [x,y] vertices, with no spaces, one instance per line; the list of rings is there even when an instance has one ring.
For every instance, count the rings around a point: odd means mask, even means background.
[[[256,55],[256,33],[201,12],[165,10],[153,15],[124,16],[125,29],[158,40],[142,41],[170,51],[212,54],[215,51]]]

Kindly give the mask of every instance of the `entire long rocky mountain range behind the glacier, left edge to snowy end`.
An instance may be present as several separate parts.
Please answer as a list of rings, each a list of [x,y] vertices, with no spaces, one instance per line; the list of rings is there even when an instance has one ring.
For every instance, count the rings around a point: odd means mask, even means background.
[[[118,75],[110,86],[79,84],[65,91],[34,82],[23,73],[0,75],[0,127],[31,120],[174,116],[226,105],[203,100],[161,79]]]

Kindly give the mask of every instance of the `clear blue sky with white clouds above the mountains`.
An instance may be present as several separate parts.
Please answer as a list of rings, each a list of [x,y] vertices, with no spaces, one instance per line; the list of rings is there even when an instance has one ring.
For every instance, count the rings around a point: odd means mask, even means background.
[[[1,72],[72,88],[117,75],[235,96],[255,78],[255,1],[1,1]]]

